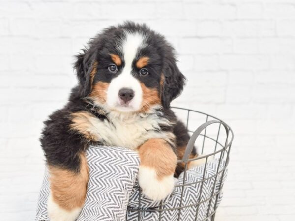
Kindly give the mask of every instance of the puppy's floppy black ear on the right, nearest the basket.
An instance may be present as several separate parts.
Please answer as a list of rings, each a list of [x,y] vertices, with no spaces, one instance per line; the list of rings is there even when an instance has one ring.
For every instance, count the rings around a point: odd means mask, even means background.
[[[162,105],[169,108],[172,100],[178,97],[185,85],[185,77],[179,71],[173,54],[166,58],[164,65],[164,87],[162,92]]]

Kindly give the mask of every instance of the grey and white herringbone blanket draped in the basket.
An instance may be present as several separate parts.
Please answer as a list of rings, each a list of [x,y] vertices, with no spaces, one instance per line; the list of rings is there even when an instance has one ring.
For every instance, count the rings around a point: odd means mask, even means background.
[[[222,194],[217,194],[220,185],[225,179],[222,173],[215,177],[218,161],[190,169],[186,172],[183,189],[177,185],[183,184],[184,174],[176,180],[176,188],[173,193],[162,202],[162,212],[144,211],[138,213],[132,209],[140,208],[158,209],[160,202],[152,202],[145,196],[139,197],[137,173],[139,158],[136,152],[120,147],[92,146],[87,151],[89,165],[89,183],[85,205],[77,221],[176,221],[180,216],[181,221],[193,221],[197,215],[197,221],[201,221],[213,212],[215,202],[218,206]],[[222,161],[218,171],[224,167]],[[203,177],[204,176],[204,177]],[[211,177],[211,178],[210,178]],[[205,178],[206,181],[198,182]],[[216,196],[218,198],[216,200]],[[44,181],[41,187],[37,207],[37,221],[48,221],[47,198],[49,195],[48,172],[45,171]],[[181,197],[182,195],[182,197]],[[211,196],[212,199],[207,200]],[[182,198],[182,200],[181,200]],[[202,202],[198,205],[198,202]],[[183,207],[182,209],[174,208]]]

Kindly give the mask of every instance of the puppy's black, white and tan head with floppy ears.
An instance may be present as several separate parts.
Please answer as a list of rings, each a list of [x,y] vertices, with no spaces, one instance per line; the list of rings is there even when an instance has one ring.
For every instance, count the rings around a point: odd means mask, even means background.
[[[126,22],[90,40],[75,63],[81,96],[112,111],[168,108],[185,78],[173,47],[146,25]]]

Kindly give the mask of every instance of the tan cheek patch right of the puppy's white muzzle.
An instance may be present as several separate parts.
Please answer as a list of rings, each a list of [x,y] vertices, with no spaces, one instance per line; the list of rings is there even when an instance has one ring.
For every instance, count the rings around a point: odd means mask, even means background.
[[[144,83],[140,83],[140,85],[143,91],[143,100],[140,112],[148,111],[152,105],[161,103],[161,99],[157,89],[148,88],[145,86]]]

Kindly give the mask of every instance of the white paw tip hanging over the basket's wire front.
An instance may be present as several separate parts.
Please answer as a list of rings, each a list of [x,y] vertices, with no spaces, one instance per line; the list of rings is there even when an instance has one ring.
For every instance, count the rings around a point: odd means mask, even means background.
[[[174,188],[173,174],[158,178],[154,169],[145,166],[139,167],[138,183],[142,193],[153,201],[165,199]]]

